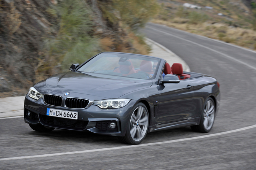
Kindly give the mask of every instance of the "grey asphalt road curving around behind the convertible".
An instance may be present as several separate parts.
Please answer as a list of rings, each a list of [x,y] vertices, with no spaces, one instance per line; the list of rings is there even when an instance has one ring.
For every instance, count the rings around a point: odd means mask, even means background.
[[[153,132],[132,147],[117,137],[58,129],[38,133],[23,118],[0,119],[0,169],[256,169],[256,128],[182,140],[256,124],[256,53],[151,23],[143,32],[185,60],[191,71],[217,78],[221,106],[211,132],[190,127]],[[178,141],[151,145],[173,140]],[[99,150],[65,154],[91,149]],[[53,155],[38,157],[42,154]],[[31,157],[1,160],[21,156]]]

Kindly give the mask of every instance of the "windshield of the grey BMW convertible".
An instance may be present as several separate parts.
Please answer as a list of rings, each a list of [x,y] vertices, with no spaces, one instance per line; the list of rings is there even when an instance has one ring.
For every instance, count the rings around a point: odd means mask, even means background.
[[[104,75],[124,76],[140,79],[153,79],[160,59],[136,54],[103,52],[77,71]]]

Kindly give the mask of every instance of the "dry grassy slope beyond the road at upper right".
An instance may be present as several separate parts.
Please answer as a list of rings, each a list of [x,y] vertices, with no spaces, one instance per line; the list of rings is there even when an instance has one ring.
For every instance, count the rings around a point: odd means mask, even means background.
[[[154,23],[256,49],[256,3],[243,0],[160,0]],[[184,3],[201,9],[184,7]],[[212,9],[205,8],[212,7]]]

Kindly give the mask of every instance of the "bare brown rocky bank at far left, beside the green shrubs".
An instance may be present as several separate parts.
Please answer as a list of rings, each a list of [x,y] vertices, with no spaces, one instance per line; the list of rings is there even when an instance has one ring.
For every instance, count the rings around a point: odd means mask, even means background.
[[[54,18],[46,12],[55,0],[0,2],[0,93],[24,94],[34,83],[43,37],[54,36]],[[4,95],[4,93],[2,94]]]

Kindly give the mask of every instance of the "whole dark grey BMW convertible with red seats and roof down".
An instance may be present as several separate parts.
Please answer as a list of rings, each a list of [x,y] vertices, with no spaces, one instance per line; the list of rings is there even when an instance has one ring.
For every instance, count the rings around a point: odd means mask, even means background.
[[[139,144],[149,132],[191,126],[209,132],[219,83],[161,58],[102,52],[29,89],[24,121],[36,131],[89,130]]]

